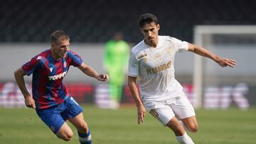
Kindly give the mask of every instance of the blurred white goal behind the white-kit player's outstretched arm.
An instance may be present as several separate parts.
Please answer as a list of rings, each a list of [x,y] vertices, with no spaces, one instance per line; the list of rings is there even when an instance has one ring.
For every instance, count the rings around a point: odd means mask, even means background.
[[[236,105],[247,109],[256,105],[256,26],[196,26],[194,43],[238,64],[220,67],[195,55],[194,107],[227,109]]]

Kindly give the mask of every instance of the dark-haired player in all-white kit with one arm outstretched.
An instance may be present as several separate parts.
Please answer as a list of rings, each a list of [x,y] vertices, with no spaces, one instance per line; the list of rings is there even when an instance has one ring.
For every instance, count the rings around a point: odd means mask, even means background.
[[[176,52],[187,50],[217,62],[221,67],[234,67],[235,60],[218,57],[198,45],[169,36],[158,35],[159,22],[151,13],[139,17],[144,40],[132,48],[129,57],[128,85],[137,104],[138,123],[146,111],[174,131],[178,143],[191,144],[186,130],[198,130],[193,106],[174,77]],[[139,90],[136,79],[139,77]]]

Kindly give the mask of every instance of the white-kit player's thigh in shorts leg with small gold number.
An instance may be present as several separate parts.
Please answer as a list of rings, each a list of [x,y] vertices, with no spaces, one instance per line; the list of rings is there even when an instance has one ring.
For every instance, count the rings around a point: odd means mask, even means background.
[[[159,120],[163,126],[166,126],[166,124],[171,121],[171,118],[175,116],[174,111],[166,104],[156,104],[153,106],[145,105],[145,107],[146,110],[149,111],[154,118]]]

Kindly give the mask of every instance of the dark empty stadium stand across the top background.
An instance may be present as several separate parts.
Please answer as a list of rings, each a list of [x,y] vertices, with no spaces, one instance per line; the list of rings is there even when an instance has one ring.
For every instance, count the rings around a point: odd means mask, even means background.
[[[255,7],[254,0],[1,0],[0,42],[48,42],[60,29],[78,43],[105,43],[116,31],[137,43],[137,18],[146,12],[158,16],[161,35],[192,42],[195,25],[256,24]]]

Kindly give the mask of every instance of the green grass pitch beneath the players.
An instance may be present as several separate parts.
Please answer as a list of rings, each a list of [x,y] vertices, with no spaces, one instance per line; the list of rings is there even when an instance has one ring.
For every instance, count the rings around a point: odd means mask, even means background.
[[[174,133],[161,126],[149,113],[142,125],[137,124],[137,109],[97,109],[84,106],[84,117],[90,126],[95,144],[171,144],[177,143]],[[197,144],[256,143],[256,109],[240,111],[196,111],[199,131],[188,133]],[[75,128],[69,123],[78,143]],[[57,138],[41,121],[33,109],[0,109],[1,144],[59,144]]]

